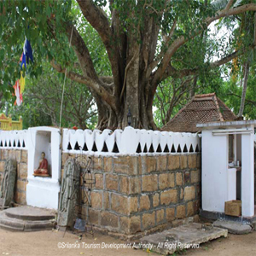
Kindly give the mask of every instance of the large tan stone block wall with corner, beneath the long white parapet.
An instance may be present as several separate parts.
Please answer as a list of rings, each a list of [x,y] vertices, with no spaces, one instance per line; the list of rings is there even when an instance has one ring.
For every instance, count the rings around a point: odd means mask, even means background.
[[[72,157],[75,154],[62,154],[62,168]],[[91,193],[90,220],[99,230],[131,236],[183,224],[197,216],[201,154],[91,157],[96,185]]]

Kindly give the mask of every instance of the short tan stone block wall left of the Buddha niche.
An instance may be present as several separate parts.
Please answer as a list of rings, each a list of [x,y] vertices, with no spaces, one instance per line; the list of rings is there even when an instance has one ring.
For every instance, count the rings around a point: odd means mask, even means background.
[[[15,183],[15,202],[26,205],[27,184],[27,150],[24,149],[0,149],[0,173],[1,181],[4,172],[5,161],[9,158],[17,161],[17,175]]]

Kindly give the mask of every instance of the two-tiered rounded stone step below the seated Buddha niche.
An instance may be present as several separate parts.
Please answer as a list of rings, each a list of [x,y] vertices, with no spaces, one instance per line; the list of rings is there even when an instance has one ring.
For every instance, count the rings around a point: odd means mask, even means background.
[[[20,213],[19,208],[21,208]],[[35,215],[39,212],[38,210],[44,209],[30,207],[32,212],[30,212],[29,214],[27,214],[26,210],[24,210],[24,208],[22,209],[22,207],[16,207],[15,211],[10,211],[12,209],[15,208],[9,208],[0,212],[0,228],[12,231],[29,232],[39,230],[51,230],[55,227],[55,215],[41,214],[43,218],[41,220],[39,220],[38,216]],[[45,211],[42,212],[45,213]],[[49,216],[51,217],[50,219]]]

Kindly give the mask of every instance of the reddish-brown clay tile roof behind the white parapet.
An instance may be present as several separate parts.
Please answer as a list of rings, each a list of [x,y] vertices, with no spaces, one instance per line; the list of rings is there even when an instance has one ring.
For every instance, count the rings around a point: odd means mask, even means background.
[[[215,93],[195,95],[161,131],[197,132],[197,124],[233,121],[237,117]]]

